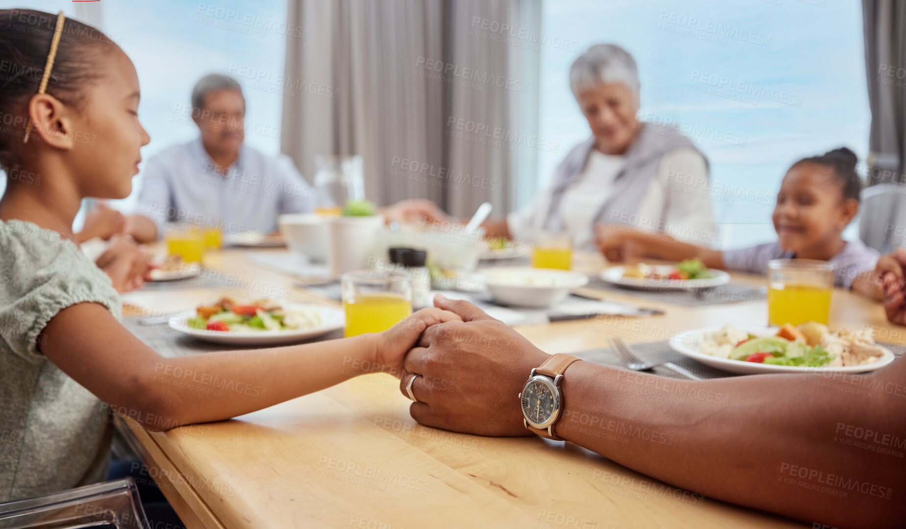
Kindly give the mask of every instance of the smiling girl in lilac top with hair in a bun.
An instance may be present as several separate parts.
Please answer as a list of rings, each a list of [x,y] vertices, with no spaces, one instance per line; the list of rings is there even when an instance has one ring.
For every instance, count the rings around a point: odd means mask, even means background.
[[[862,241],[844,241],[841,236],[859,211],[862,181],[855,164],[855,154],[845,147],[795,162],[777,193],[773,243],[720,251],[612,225],[597,226],[597,244],[612,261],[629,255],[674,261],[697,257],[708,267],[753,274],[765,274],[771,259],[829,261],[837,265],[835,284],[880,298],[882,292],[872,274],[878,253]]]

